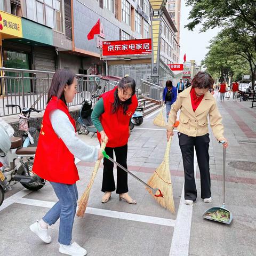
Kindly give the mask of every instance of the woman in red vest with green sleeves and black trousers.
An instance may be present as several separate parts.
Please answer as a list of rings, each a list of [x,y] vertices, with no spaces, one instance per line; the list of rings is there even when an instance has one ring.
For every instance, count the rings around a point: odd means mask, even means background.
[[[135,95],[135,81],[127,76],[121,79],[113,90],[101,95],[92,112],[92,122],[98,130],[100,143],[108,139],[106,153],[127,168],[127,143],[130,137],[130,122],[138,100]],[[114,164],[108,159],[103,161],[103,180],[101,191],[105,193],[102,203],[107,203],[111,192],[116,190],[119,200],[129,204],[137,202],[128,195],[127,173],[117,166],[117,184],[115,187]]]

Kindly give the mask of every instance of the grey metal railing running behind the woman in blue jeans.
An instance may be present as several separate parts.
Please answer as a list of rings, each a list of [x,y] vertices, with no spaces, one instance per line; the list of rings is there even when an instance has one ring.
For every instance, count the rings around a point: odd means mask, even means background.
[[[44,110],[47,94],[54,72],[29,69],[0,68],[0,116],[19,114],[18,108],[5,105],[20,105]],[[69,106],[91,98],[98,88],[101,76],[76,74],[77,94]]]

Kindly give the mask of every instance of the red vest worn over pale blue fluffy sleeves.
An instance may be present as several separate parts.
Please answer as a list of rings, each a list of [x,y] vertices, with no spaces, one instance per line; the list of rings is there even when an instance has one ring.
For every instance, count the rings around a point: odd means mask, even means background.
[[[74,155],[53,130],[50,112],[54,109],[62,110],[76,130],[76,123],[70,116],[66,104],[57,97],[52,97],[44,112],[33,172],[48,181],[74,184],[79,180]]]

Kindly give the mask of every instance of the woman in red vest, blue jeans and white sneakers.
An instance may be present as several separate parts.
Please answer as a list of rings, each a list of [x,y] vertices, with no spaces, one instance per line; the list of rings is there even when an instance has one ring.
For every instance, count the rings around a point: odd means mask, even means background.
[[[60,218],[59,252],[83,256],[86,250],[76,242],[71,243],[78,198],[76,181],[79,180],[75,157],[94,162],[102,158],[102,153],[76,137],[75,120],[67,107],[76,93],[75,74],[67,69],[58,70],[48,92],[33,172],[50,181],[59,201],[40,221],[30,225],[30,230],[45,243],[50,243],[48,227]]]

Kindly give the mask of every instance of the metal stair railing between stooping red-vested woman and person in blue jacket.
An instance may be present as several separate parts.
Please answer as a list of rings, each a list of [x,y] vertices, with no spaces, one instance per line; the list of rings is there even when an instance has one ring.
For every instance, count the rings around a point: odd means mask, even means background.
[[[140,81],[140,86],[138,86],[137,89],[137,97],[140,98],[141,95],[142,97],[150,98],[161,103],[163,98],[163,87],[150,83],[144,79],[140,79]]]

